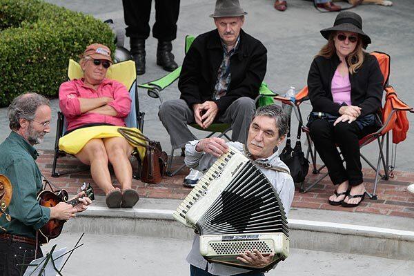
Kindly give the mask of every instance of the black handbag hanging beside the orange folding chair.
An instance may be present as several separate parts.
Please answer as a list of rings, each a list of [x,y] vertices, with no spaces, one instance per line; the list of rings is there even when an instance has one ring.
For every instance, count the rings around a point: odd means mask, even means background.
[[[288,166],[290,175],[294,182],[303,182],[306,175],[308,175],[309,161],[305,158],[302,151],[302,145],[300,142],[300,133],[302,125],[299,123],[297,128],[297,140],[295,148],[290,146],[290,130],[288,132],[288,138],[286,140],[286,146],[279,155],[280,159]]]

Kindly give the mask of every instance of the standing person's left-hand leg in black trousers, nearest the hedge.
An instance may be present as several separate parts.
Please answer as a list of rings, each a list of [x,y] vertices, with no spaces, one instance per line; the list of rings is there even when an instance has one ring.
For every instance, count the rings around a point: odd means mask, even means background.
[[[122,0],[126,36],[130,38],[130,53],[137,75],[145,73],[145,40],[150,35],[151,0]]]

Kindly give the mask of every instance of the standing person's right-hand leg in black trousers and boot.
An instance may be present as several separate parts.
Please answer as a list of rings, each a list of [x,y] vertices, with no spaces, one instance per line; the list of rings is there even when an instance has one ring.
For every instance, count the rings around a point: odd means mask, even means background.
[[[157,65],[171,72],[178,68],[171,41],[177,37],[179,0],[155,0],[155,24],[152,35],[158,39]]]

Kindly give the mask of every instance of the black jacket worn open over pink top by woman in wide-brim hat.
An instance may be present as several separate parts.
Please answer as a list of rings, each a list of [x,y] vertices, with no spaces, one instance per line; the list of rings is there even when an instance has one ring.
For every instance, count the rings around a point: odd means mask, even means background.
[[[339,115],[339,108],[346,105],[334,103],[331,92],[333,75],[339,63],[339,57],[336,54],[330,59],[325,57],[313,59],[308,75],[308,95],[313,111]],[[349,74],[349,81],[351,82],[351,103],[353,106],[362,108],[360,116],[377,112],[381,107],[384,81],[377,59],[373,55],[364,53],[364,63],[357,72]]]

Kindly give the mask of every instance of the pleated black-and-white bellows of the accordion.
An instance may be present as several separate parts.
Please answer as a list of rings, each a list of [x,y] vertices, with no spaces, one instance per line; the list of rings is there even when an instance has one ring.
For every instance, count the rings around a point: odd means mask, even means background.
[[[213,201],[196,226],[201,235],[264,232],[288,235],[286,225],[284,208],[273,185],[249,161]]]

